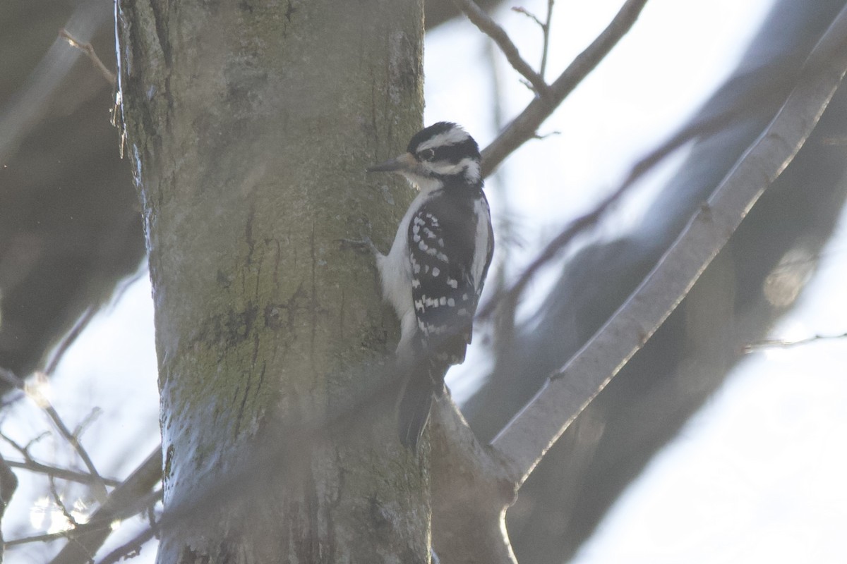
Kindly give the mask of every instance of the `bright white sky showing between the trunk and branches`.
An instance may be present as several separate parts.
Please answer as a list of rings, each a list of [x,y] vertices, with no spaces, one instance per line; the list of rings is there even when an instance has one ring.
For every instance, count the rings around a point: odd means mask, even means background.
[[[556,3],[548,79],[595,38],[620,4]],[[544,0],[507,3],[513,5],[545,14]],[[490,181],[495,219],[508,209],[526,242],[527,253],[517,260],[529,260],[568,218],[589,209],[635,159],[711,94],[734,68],[769,6],[769,0],[647,4],[606,62],[541,126],[542,134],[560,134],[524,145]],[[540,61],[540,30],[529,19],[507,9],[495,19],[525,59]],[[473,25],[460,21],[430,33],[425,55],[425,122],[462,123],[481,146],[496,133],[486,46]],[[530,95],[502,57],[496,60],[508,120]],[[596,118],[601,113],[603,122]],[[667,176],[672,166],[656,176]],[[506,187],[508,201],[497,181]],[[847,331],[845,224],[824,252],[800,307],[774,337]],[[147,277],[141,277],[97,316],[53,379],[52,401],[69,426],[93,406],[104,409],[84,435],[102,474],[125,477],[158,442],[154,355],[152,300]],[[478,368],[473,355],[469,358],[466,368]],[[847,561],[845,364],[844,339],[750,355],[617,502],[577,561]],[[462,375],[462,370],[451,373],[456,396],[473,387],[473,382],[462,386],[470,381]],[[7,413],[2,426],[21,442],[49,428],[29,400]],[[15,458],[5,446],[3,452]],[[37,452],[44,460],[69,463],[66,452],[50,441],[42,441]],[[28,521],[32,496],[44,490],[42,479],[31,485],[25,472],[17,474],[21,485],[3,523],[7,539],[17,536],[14,518]],[[140,525],[136,519],[125,528]],[[147,547],[133,562],[152,562],[154,553]],[[9,552],[7,559],[32,561],[24,550]]]

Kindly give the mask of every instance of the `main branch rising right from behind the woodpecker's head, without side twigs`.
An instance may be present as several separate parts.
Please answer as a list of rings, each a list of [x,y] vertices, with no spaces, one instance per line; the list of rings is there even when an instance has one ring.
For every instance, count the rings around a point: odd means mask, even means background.
[[[468,0],[466,0],[468,1]],[[482,151],[482,172],[487,177],[503,160],[527,140],[533,139],[540,124],[558,107],[565,97],[612,51],[617,41],[626,35],[638,19],[647,0],[627,0],[602,33],[550,85],[549,96],[529,102],[523,112],[509,123],[497,139]],[[479,9],[479,8],[478,8]],[[487,17],[487,16],[486,16]]]

